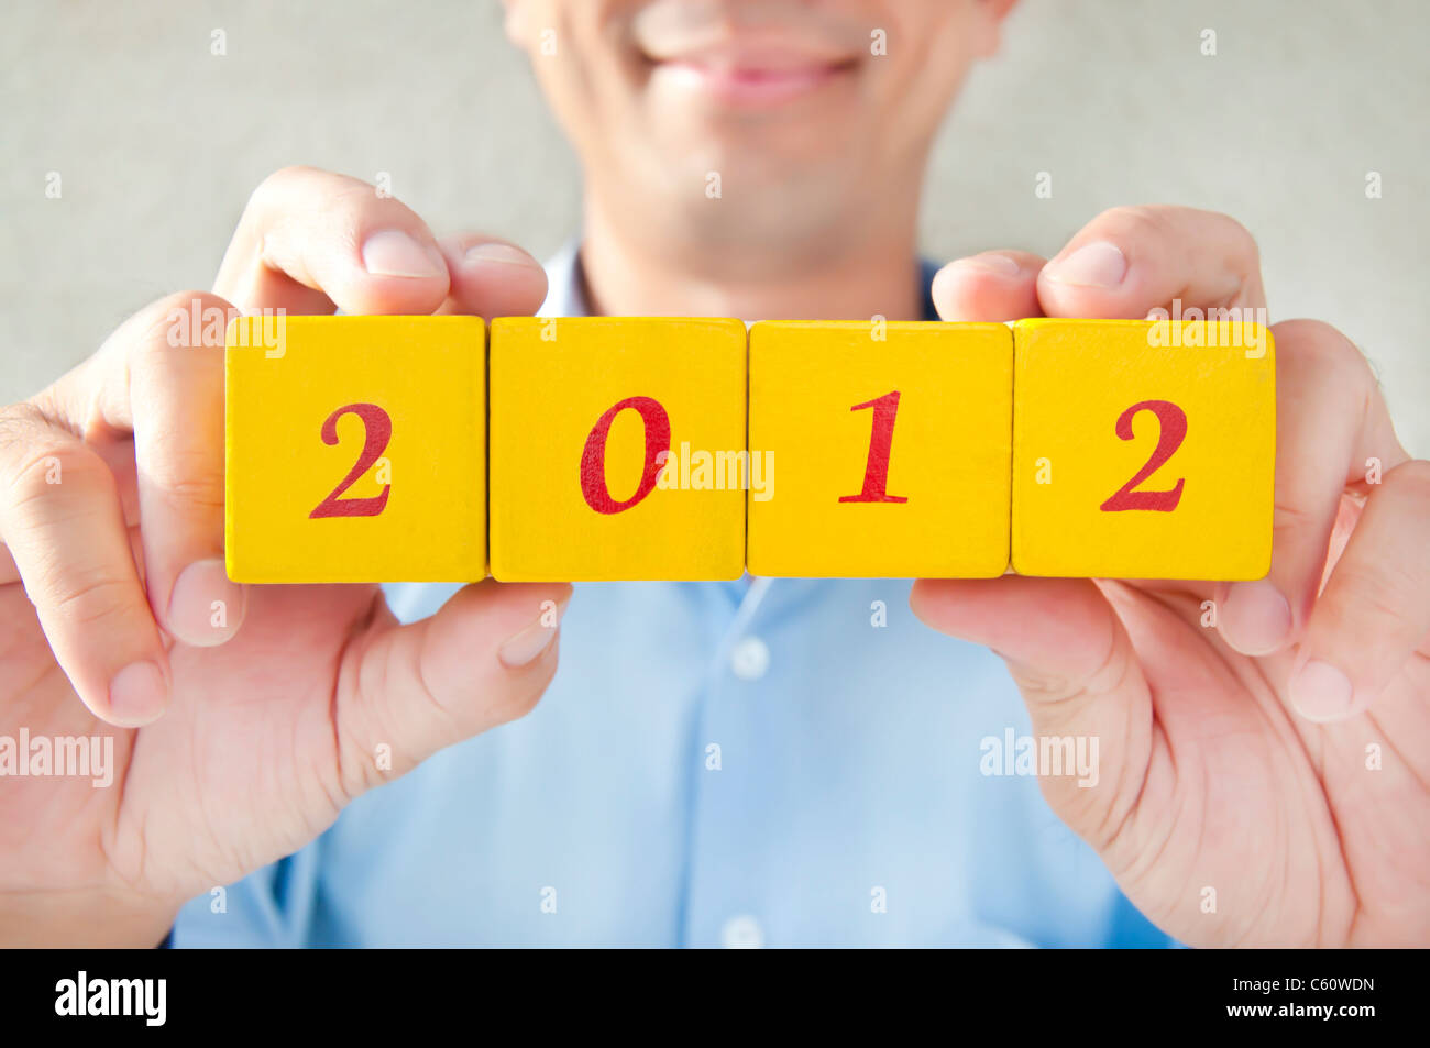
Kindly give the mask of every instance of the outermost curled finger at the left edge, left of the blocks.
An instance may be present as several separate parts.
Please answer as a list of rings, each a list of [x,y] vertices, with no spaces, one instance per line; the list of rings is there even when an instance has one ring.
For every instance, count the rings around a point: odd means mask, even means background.
[[[103,721],[169,705],[169,659],[130,553],[114,475],[30,405],[0,416],[0,538],[54,658]]]

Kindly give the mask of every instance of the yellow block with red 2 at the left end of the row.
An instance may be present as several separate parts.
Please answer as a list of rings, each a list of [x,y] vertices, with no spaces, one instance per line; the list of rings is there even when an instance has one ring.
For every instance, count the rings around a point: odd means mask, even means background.
[[[483,578],[485,345],[466,316],[229,325],[229,578]]]

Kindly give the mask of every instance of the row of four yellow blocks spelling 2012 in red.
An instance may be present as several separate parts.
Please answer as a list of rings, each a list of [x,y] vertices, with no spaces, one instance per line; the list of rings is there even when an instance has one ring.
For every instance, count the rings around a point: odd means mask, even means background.
[[[1274,443],[1233,320],[239,317],[227,569],[1254,579]]]

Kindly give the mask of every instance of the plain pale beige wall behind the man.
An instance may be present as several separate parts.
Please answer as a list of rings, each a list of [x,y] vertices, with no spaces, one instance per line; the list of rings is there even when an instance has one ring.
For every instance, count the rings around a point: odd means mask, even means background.
[[[571,154],[496,0],[7,0],[0,24],[0,402],[144,302],[209,286],[285,164],[389,172],[439,232],[536,253],[575,222]],[[1273,320],[1350,335],[1430,456],[1427,29],[1423,0],[1022,0],[940,143],[925,247],[1051,253],[1118,203],[1224,210],[1260,240]]]

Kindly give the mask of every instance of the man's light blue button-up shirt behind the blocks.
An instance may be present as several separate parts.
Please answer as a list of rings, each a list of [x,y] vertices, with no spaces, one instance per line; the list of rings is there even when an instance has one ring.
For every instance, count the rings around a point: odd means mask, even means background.
[[[542,316],[585,312],[575,250],[551,286]],[[1022,701],[909,585],[578,585],[535,712],[199,896],[173,944],[1173,945],[1035,778],[985,773]]]

